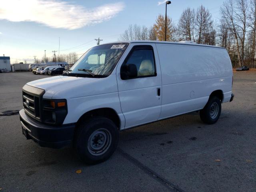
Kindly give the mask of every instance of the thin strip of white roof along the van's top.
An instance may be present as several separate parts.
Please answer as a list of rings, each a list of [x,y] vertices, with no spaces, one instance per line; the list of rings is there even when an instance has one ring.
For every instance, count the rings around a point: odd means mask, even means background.
[[[110,44],[110,43],[163,43],[163,44],[180,44],[180,45],[193,45],[193,46],[207,46],[207,47],[226,49],[224,47],[219,47],[219,46],[197,44],[196,42],[193,42],[193,41],[172,42],[172,41],[133,40],[133,41],[116,41],[116,42],[109,42],[109,43],[104,43],[104,44]]]

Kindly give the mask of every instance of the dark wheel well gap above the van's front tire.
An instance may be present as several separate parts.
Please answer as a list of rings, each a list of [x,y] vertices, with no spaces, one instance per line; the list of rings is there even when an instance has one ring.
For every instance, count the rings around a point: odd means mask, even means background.
[[[92,118],[95,116],[106,117],[112,120],[114,124],[116,124],[118,129],[120,128],[120,119],[116,111],[112,108],[99,108],[99,109],[88,111],[79,118],[77,124],[79,124],[82,120]]]

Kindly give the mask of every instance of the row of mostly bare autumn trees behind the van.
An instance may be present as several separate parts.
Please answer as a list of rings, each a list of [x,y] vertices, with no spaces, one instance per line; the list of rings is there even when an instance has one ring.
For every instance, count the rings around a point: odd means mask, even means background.
[[[166,40],[190,40],[199,44],[216,45],[227,49],[233,67],[255,68],[256,0],[226,0],[220,6],[220,16],[214,21],[203,5],[183,10],[178,23],[167,17]],[[159,14],[149,28],[129,25],[120,40],[165,39],[165,16]]]

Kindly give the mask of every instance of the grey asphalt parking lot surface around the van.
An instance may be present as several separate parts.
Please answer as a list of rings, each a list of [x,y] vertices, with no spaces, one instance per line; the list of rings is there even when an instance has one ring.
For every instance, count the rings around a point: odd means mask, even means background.
[[[0,111],[22,109],[22,86],[46,77],[0,74]],[[256,71],[235,72],[233,93],[216,124],[194,112],[120,132],[118,150],[94,166],[26,140],[18,115],[0,116],[1,192],[255,192]]]

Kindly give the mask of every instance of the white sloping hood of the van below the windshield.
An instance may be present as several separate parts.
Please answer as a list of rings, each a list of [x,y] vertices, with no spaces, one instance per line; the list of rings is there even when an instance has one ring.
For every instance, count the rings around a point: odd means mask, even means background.
[[[98,78],[54,76],[28,82],[27,85],[45,90],[44,98],[52,98],[54,94],[80,84],[87,84]]]

